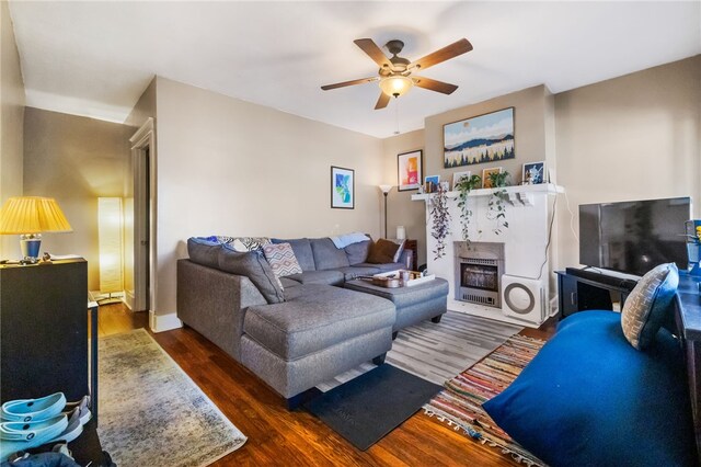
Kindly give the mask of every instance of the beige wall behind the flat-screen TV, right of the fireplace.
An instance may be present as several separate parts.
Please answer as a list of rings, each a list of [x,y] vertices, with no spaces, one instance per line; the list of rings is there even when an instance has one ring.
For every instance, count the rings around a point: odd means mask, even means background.
[[[560,265],[578,263],[577,206],[692,196],[701,216],[701,56],[555,95]],[[681,232],[680,226],[680,232]]]

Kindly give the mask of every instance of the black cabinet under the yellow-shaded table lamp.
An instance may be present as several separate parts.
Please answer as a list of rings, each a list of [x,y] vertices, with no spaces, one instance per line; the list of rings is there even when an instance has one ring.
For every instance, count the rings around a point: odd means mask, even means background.
[[[92,390],[93,420],[69,447],[80,465],[100,466],[96,345],[89,352],[89,340],[97,339],[96,309],[91,312],[89,333],[85,260],[0,265],[0,399],[61,391],[74,401]]]

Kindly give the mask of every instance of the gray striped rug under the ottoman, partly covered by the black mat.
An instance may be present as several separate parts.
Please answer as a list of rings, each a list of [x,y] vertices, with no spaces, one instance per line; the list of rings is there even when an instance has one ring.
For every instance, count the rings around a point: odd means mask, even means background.
[[[386,362],[443,386],[521,329],[520,326],[448,311],[439,323],[426,320],[399,331]],[[327,391],[372,368],[371,363],[363,363],[317,388]]]

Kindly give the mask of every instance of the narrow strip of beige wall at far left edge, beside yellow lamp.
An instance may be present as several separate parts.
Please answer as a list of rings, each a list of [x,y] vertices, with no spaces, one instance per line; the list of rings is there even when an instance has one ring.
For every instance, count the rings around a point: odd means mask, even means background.
[[[24,82],[7,1],[0,1],[0,206],[22,195]],[[0,259],[19,259],[18,236],[0,236]]]

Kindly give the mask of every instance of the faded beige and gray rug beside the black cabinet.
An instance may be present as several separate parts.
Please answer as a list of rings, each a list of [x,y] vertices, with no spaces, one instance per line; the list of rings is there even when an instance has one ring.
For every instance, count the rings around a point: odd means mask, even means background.
[[[100,339],[100,440],[119,467],[206,466],[246,437],[143,329]]]

